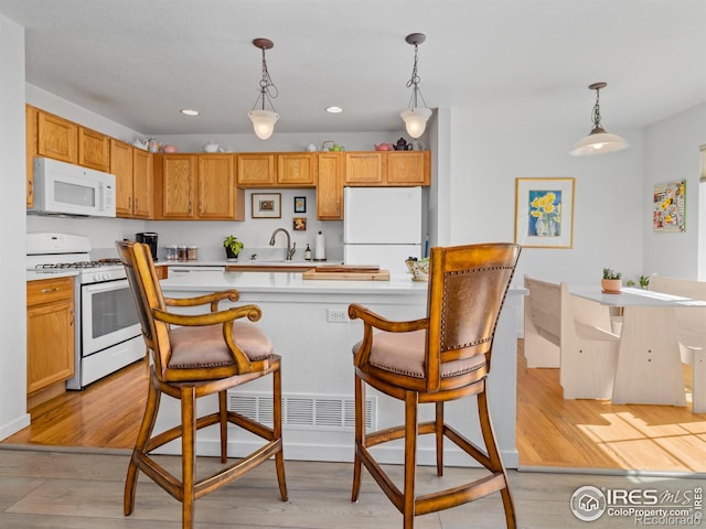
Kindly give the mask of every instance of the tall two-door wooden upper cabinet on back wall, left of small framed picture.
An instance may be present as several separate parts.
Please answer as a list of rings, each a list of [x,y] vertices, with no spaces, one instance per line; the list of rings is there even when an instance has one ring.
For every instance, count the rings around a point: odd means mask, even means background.
[[[244,219],[245,195],[235,184],[234,154],[160,154],[156,160],[156,217]]]

